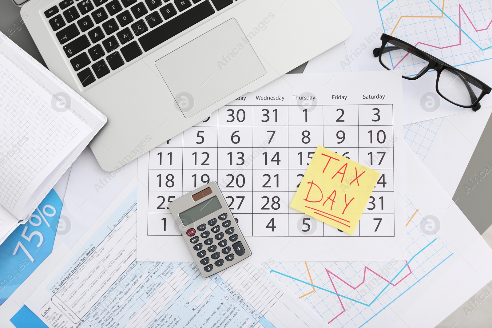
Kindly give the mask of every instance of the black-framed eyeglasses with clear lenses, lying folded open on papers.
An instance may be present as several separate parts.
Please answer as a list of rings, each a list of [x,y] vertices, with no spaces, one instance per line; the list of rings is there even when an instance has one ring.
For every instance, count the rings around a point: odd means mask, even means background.
[[[468,73],[388,34],[381,35],[381,48],[372,51],[374,57],[388,70],[395,70],[407,80],[416,80],[427,71],[437,72],[435,90],[449,101],[464,108],[480,109],[480,99],[491,92],[491,87]]]

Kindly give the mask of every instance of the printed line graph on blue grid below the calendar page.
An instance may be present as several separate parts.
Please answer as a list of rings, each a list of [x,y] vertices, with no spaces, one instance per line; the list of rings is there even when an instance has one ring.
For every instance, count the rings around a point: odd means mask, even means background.
[[[454,254],[432,227],[423,228],[423,210],[407,204],[408,261],[282,262],[270,273],[330,327],[363,327]]]

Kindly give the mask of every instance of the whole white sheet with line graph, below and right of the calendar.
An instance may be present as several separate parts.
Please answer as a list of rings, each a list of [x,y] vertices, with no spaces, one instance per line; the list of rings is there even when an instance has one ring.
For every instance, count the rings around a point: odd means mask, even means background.
[[[492,279],[489,245],[412,151],[403,150],[406,174],[414,177],[400,193],[407,261],[270,266],[271,276],[329,327],[436,327]]]

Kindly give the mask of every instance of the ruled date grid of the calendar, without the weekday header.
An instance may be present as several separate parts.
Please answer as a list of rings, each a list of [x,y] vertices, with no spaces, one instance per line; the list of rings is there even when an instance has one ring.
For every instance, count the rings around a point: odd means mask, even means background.
[[[150,151],[148,235],[181,236],[167,204],[216,180],[246,237],[347,237],[289,207],[323,145],[382,174],[352,237],[394,237],[393,136],[392,104],[226,106]]]

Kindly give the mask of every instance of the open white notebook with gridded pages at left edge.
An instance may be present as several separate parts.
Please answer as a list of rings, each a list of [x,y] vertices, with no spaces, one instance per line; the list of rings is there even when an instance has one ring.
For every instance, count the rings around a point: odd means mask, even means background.
[[[0,33],[0,243],[29,220],[106,121]]]

